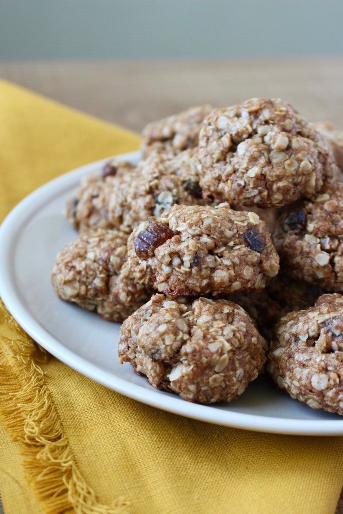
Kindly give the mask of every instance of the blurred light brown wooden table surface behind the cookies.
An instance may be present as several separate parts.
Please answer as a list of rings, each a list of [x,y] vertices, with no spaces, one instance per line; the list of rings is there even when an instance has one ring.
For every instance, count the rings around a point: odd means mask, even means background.
[[[343,57],[254,61],[0,63],[13,81],[99,118],[140,131],[190,105],[280,97],[311,121],[343,128]],[[336,514],[343,514],[343,494]]]

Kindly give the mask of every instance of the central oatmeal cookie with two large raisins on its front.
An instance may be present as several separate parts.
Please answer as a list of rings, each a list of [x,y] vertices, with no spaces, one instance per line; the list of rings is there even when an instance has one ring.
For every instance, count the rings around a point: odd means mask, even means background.
[[[172,296],[260,289],[279,270],[265,224],[253,212],[174,205],[141,223],[128,240],[138,282]]]

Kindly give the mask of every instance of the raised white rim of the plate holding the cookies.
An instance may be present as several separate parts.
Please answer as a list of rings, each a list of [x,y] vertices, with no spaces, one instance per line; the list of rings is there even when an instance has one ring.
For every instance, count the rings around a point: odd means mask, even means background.
[[[122,160],[136,160],[139,152],[130,152],[115,156]],[[99,168],[111,157],[85,164],[67,173],[56,177],[43,186],[31,192],[20,201],[6,216],[0,226],[0,269],[12,270],[11,251],[14,249],[16,236],[20,234],[30,215],[37,212],[51,196],[63,189],[70,187],[71,183],[81,176]],[[51,355],[55,356],[66,365],[88,378],[95,380],[103,386],[116,391],[124,396],[146,403],[152,407],[182,415],[188,418],[206,421],[216,425],[222,425],[243,430],[257,432],[269,432],[288,435],[343,435],[343,419],[296,419],[272,416],[258,416],[241,412],[216,409],[212,406],[190,403],[175,396],[160,395],[158,391],[143,388],[139,384],[128,382],[110,372],[101,371],[98,367],[85,358],[66,348],[58,339],[37,321],[25,308],[17,291],[14,273],[0,273],[0,297],[6,308],[19,325],[38,342]],[[295,400],[296,401],[296,400]]]

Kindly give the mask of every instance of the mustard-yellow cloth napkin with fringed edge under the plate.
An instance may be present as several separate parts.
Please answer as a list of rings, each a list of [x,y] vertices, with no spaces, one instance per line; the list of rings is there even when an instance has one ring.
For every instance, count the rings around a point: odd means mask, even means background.
[[[0,82],[1,215],[43,182],[138,143],[122,128]],[[335,510],[343,438],[247,432],[147,407],[45,354],[3,305],[0,366],[0,413],[15,441],[1,427],[5,514]]]

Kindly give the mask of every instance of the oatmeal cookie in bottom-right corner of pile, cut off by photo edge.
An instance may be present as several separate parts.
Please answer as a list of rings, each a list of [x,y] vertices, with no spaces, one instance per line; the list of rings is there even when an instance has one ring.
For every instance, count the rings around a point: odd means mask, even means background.
[[[323,295],[314,307],[282,318],[268,370],[292,398],[343,415],[343,297]]]

